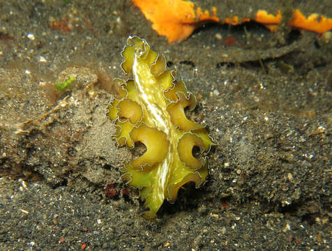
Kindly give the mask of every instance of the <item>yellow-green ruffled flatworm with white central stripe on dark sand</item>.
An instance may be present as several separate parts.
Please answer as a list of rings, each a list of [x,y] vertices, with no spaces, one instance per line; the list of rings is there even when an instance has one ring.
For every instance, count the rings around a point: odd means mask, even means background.
[[[121,55],[121,67],[133,79],[118,80],[107,116],[116,124],[118,146],[134,148],[140,142],[146,147],[124,162],[123,178],[140,190],[149,208],[144,218],[154,219],[165,199],[175,201],[182,185],[193,181],[199,188],[206,181],[206,153],[214,143],[204,126],[187,118],[185,109],[193,110],[197,100],[175,70],[165,70],[163,55],[137,36],[128,38]]]

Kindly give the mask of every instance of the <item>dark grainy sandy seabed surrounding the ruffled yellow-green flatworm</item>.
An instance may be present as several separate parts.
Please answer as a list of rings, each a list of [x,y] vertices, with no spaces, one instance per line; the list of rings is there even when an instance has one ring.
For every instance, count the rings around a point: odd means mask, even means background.
[[[227,16],[262,1],[210,2]],[[332,17],[331,1],[291,2],[284,13]],[[331,38],[206,24],[169,45],[131,1],[0,6],[0,250],[331,248]],[[133,34],[178,70],[199,97],[190,118],[218,142],[208,182],[187,184],[155,223],[121,181],[133,153],[116,149],[105,116]]]

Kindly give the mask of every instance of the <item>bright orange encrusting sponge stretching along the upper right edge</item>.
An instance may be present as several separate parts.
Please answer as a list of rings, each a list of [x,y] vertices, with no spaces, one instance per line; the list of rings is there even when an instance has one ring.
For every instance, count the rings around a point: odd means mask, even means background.
[[[246,17],[217,17],[217,8],[202,10],[195,3],[186,0],[133,0],[145,17],[152,22],[152,28],[159,35],[166,36],[169,43],[181,41],[190,36],[193,31],[206,22],[220,22],[238,25],[250,20],[264,24],[271,31],[276,31],[280,25],[282,15],[278,10],[276,15],[258,10],[255,18]],[[289,26],[317,33],[324,33],[332,29],[332,18],[313,13],[305,17],[299,9],[295,9]]]

